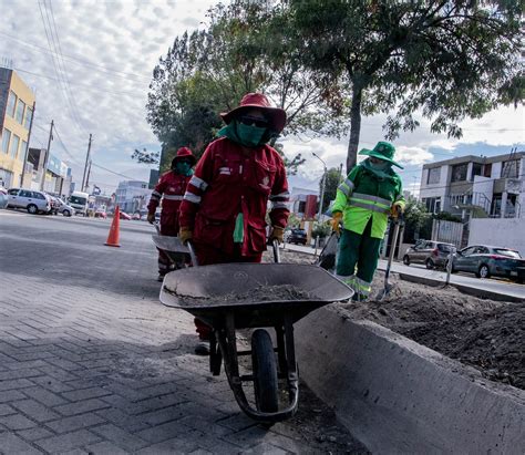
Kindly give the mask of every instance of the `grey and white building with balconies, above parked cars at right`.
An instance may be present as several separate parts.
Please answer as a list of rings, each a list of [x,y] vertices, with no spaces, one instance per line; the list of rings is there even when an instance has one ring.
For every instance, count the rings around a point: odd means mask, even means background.
[[[420,199],[431,213],[466,220],[525,217],[525,152],[425,164]]]

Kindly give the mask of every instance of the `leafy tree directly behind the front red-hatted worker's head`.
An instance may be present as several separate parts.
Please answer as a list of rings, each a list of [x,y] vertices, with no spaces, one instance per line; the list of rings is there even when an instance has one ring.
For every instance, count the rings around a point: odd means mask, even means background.
[[[281,2],[219,4],[208,12],[206,30],[175,39],[153,71],[146,105],[163,143],[161,167],[171,147],[186,145],[200,156],[222,126],[218,113],[235,107],[247,92],[265,92],[287,111],[285,135],[339,135],[348,127],[340,84],[305,66],[301,38],[287,27],[289,13]],[[291,173],[305,162],[279,152]]]

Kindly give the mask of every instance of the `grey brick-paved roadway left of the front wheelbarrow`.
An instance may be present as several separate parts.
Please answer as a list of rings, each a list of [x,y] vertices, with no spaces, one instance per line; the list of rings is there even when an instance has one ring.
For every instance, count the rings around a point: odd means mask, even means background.
[[[109,248],[106,221],[0,210],[0,453],[362,452],[333,418],[326,446],[305,416],[241,414],[193,318],[158,302],[153,229],[121,227]]]

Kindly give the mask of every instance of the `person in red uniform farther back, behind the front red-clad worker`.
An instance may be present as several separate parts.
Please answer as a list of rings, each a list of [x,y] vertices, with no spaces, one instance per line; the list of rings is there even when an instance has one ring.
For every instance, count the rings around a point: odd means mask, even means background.
[[[178,234],[178,209],[183,201],[184,193],[193,175],[196,158],[192,151],[182,147],[172,161],[171,170],[164,173],[152,193],[147,205],[147,220],[155,223],[155,210],[162,198],[161,234],[176,236]],[[158,281],[169,271],[171,260],[165,252],[158,250]]]

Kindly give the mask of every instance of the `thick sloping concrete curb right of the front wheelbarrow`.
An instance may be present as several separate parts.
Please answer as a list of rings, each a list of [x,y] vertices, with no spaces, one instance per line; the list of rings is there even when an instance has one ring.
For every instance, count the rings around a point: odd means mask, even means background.
[[[300,375],[372,453],[525,447],[525,392],[329,306],[296,324]]]

